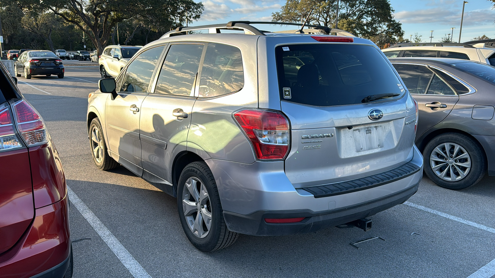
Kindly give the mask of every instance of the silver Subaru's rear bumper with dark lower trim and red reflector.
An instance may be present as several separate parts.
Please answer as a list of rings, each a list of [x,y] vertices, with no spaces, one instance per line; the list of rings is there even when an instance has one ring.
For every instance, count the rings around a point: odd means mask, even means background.
[[[294,188],[284,162],[242,164],[206,160],[217,183],[229,230],[252,235],[288,235],[314,232],[368,217],[407,200],[423,177],[423,157],[416,146],[412,163],[419,171],[371,188],[316,197]],[[268,224],[264,218],[306,217],[296,224]]]

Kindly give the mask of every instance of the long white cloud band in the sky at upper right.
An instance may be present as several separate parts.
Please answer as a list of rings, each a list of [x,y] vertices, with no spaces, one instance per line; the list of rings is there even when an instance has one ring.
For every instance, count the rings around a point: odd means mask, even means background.
[[[395,18],[401,23],[440,23],[446,25],[459,25],[461,13],[452,10],[438,8],[421,9],[413,11],[399,11]],[[474,26],[494,22],[494,12],[491,9],[479,9],[464,12],[463,25]]]

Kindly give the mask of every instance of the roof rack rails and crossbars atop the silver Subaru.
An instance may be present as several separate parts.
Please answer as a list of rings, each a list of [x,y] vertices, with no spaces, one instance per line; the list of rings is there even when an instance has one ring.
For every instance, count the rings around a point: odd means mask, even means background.
[[[165,33],[165,35],[161,36],[160,39],[168,38],[172,36],[178,35],[186,35],[189,31],[198,31],[198,30],[208,30],[208,33],[220,33],[220,30],[240,30],[244,31],[245,34],[249,35],[258,35],[258,36],[266,36],[265,33],[300,33],[300,30],[290,30],[290,31],[279,31],[279,32],[270,32],[270,31],[261,31],[251,24],[272,24],[272,25],[293,25],[293,26],[302,26],[301,23],[289,23],[289,22],[271,22],[271,21],[230,21],[227,24],[213,24],[213,25],[202,25],[202,26],[191,26],[191,27],[177,27],[175,30]],[[328,35],[330,33],[337,33],[341,36],[355,37],[351,33],[336,29],[330,28],[327,26],[321,25],[310,25],[306,24],[304,26],[311,27],[314,30],[318,30],[320,33]],[[294,32],[293,32],[294,31]]]

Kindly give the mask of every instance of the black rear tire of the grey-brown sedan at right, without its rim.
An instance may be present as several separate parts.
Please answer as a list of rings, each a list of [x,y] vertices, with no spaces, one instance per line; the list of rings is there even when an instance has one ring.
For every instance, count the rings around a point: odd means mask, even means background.
[[[434,162],[434,161],[432,162],[430,159],[431,159],[432,153],[434,151],[435,151],[435,153],[433,153],[434,154],[433,157],[435,157],[435,156],[440,157],[441,156],[441,155],[440,156],[436,155],[436,153],[438,153],[436,151],[436,147],[440,146],[441,144],[444,144],[444,143],[457,144],[461,148],[464,148],[464,150],[469,155],[469,159],[470,159],[469,162],[470,162],[471,168],[469,169],[469,172],[467,172],[465,177],[459,179],[458,181],[454,181],[454,182],[446,181],[446,180],[442,179],[441,177],[439,177],[434,172],[434,170],[432,169],[432,163],[438,163],[437,165],[442,164],[442,162]],[[451,161],[452,160],[451,158],[453,156],[452,154],[454,154],[453,149],[454,149],[454,146],[450,147],[448,154],[445,153],[446,155],[451,155],[449,158],[447,158],[445,165],[446,165],[446,167],[452,167],[452,169],[454,169],[452,171],[453,171],[454,175],[456,175],[455,173],[457,173],[457,174],[460,173],[459,169],[466,169],[466,168],[456,168],[457,164],[455,164],[453,162],[457,161],[457,160]],[[441,150],[443,152],[445,152],[444,149],[441,149]],[[440,158],[445,159],[445,155],[440,157]],[[485,176],[486,170],[487,170],[487,162],[486,162],[486,158],[485,158],[485,152],[483,151],[481,146],[478,144],[478,142],[476,142],[471,137],[466,136],[464,134],[460,134],[460,133],[441,134],[441,135],[435,137],[434,139],[432,139],[430,142],[428,142],[428,144],[426,145],[426,147],[423,151],[423,159],[424,159],[425,173],[428,176],[428,178],[430,178],[430,180],[432,180],[435,184],[437,184],[439,186],[442,186],[442,187],[448,188],[448,189],[453,189],[453,190],[464,189],[464,188],[467,188],[471,185],[476,185],[479,181],[481,181],[481,179],[483,179],[483,177]],[[466,161],[467,161],[467,158],[464,158],[464,161],[461,161],[459,159],[458,162],[463,163]],[[442,167],[444,167],[444,166],[442,166]],[[443,169],[444,168],[438,168],[437,170],[439,170],[439,172],[441,172],[441,171],[443,171]],[[447,173],[450,172],[448,170],[446,170],[446,171],[447,171]],[[448,174],[448,176],[450,176],[450,175],[451,175],[451,173]]]

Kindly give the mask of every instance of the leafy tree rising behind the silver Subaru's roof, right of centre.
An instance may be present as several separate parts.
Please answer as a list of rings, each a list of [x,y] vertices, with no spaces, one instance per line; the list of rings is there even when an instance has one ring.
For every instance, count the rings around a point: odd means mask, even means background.
[[[335,27],[336,0],[286,0],[273,21],[297,23],[313,9],[310,24]],[[394,19],[388,0],[340,0],[339,28],[382,46],[404,36],[401,23]],[[380,45],[379,45],[380,46]]]

